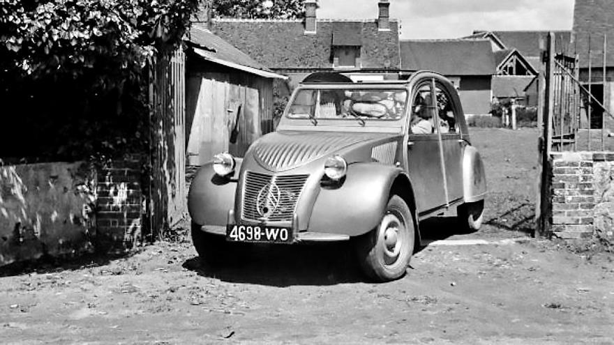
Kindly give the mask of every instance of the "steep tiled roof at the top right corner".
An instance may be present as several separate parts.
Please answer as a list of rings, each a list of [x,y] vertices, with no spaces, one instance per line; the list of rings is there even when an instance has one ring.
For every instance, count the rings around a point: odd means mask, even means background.
[[[604,50],[604,34],[607,36],[607,66],[614,66],[614,6],[611,0],[576,0],[574,6],[574,33],[580,65],[588,66],[588,36],[591,36],[593,52]],[[603,66],[602,54],[594,54],[593,66]]]

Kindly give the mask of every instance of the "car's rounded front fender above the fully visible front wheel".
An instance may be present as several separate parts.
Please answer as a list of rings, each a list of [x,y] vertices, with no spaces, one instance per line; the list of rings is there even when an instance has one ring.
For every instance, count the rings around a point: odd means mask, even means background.
[[[379,163],[347,167],[338,187],[322,186],[309,222],[309,231],[359,236],[382,220],[392,184],[401,169]]]

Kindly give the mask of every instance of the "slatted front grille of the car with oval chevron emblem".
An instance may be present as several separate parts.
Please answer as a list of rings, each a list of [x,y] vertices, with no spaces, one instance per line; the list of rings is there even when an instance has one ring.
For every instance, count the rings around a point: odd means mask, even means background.
[[[292,221],[309,175],[267,175],[246,171],[243,219],[257,222]]]

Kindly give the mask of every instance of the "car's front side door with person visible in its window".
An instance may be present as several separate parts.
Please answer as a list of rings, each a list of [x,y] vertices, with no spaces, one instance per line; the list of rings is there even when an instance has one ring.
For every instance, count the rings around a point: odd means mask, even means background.
[[[419,215],[447,205],[440,133],[432,121],[435,115],[434,85],[434,79],[424,79],[416,84],[411,96],[407,169]]]

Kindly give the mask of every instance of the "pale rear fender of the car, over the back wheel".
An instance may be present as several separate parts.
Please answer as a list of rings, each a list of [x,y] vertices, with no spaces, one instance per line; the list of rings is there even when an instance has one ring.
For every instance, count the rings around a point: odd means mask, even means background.
[[[473,146],[467,146],[463,153],[463,197],[465,202],[480,201],[486,197],[484,163]]]

